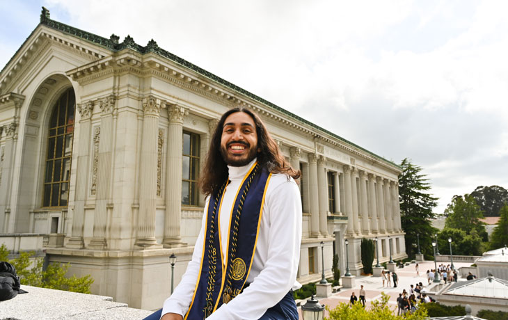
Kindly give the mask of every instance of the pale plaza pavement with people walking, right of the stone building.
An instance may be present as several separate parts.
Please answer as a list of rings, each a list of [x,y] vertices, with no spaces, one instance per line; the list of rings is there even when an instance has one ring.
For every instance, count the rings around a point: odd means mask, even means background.
[[[438,262],[439,264],[447,264],[445,262]],[[399,283],[396,288],[393,287],[393,279],[391,287],[386,286],[383,287],[383,280],[381,277],[374,277],[372,275],[360,275],[356,276],[356,283],[355,287],[351,289],[344,289],[342,288],[340,291],[336,292],[332,296],[328,298],[319,298],[319,303],[327,305],[329,308],[333,309],[336,307],[339,303],[349,303],[349,297],[351,296],[351,292],[354,291],[356,297],[358,298],[359,291],[360,291],[360,285],[363,285],[363,289],[365,290],[365,307],[370,307],[370,302],[374,300],[379,300],[381,298],[381,292],[384,292],[390,296],[390,301],[388,301],[388,306],[397,312],[397,298],[399,294],[402,293],[403,289],[406,289],[406,291],[409,292],[409,289],[411,288],[411,285],[415,285],[417,282],[422,282],[424,285],[424,289],[428,287],[428,280],[427,280],[427,270],[434,269],[434,261],[424,261],[419,262],[418,265],[420,266],[420,276],[416,276],[415,271],[415,264],[411,263],[408,266],[404,266],[404,268],[397,268],[396,273],[398,275]],[[470,262],[466,263],[455,263],[454,267],[455,269],[459,269],[462,266],[470,266]],[[391,275],[390,275],[391,277]],[[459,275],[460,277],[460,275]],[[443,279],[441,279],[443,280]],[[460,278],[459,278],[460,281]],[[341,282],[342,285],[342,282]],[[360,301],[358,301],[360,303]],[[302,302],[302,305],[305,304],[305,302]],[[300,319],[301,318],[301,308],[299,308],[299,314]],[[328,316],[328,312],[326,312],[326,316]]]

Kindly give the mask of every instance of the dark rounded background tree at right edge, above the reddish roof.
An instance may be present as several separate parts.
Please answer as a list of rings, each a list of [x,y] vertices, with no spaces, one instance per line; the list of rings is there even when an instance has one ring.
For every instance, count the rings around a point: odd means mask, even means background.
[[[508,190],[502,186],[477,186],[471,195],[484,216],[499,216],[500,209],[508,202]]]

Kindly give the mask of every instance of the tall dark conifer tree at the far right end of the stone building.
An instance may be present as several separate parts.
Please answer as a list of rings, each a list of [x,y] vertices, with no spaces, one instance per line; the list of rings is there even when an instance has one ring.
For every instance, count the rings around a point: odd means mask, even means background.
[[[437,229],[432,227],[435,218],[434,209],[438,198],[429,193],[431,185],[422,168],[415,166],[407,158],[400,164],[402,173],[399,175],[399,201],[402,229],[406,232],[406,253],[414,257],[417,252],[417,237],[420,234],[420,249],[426,255],[433,255],[432,234]]]

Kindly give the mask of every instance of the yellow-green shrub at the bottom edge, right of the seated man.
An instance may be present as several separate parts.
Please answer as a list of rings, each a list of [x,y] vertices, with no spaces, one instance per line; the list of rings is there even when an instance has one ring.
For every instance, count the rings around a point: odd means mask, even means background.
[[[374,300],[370,303],[370,310],[363,307],[358,301],[353,307],[349,307],[348,303],[339,303],[337,307],[328,310],[328,317],[326,320],[424,320],[428,319],[427,310],[424,307],[419,307],[412,314],[405,314],[404,316],[397,316],[395,312],[388,307],[388,300],[390,296],[381,292],[381,300]]]

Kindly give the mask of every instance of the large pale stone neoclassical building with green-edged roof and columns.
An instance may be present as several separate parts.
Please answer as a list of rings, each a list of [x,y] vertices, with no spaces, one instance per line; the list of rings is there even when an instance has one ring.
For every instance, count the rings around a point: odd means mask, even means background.
[[[91,274],[93,293],[155,309],[191,257],[204,198],[197,181],[220,115],[260,114],[300,168],[299,280],[331,275],[333,254],[362,271],[360,241],[406,257],[400,168],[330,131],[128,35],[102,38],[51,20],[0,73],[0,242],[44,247]]]

